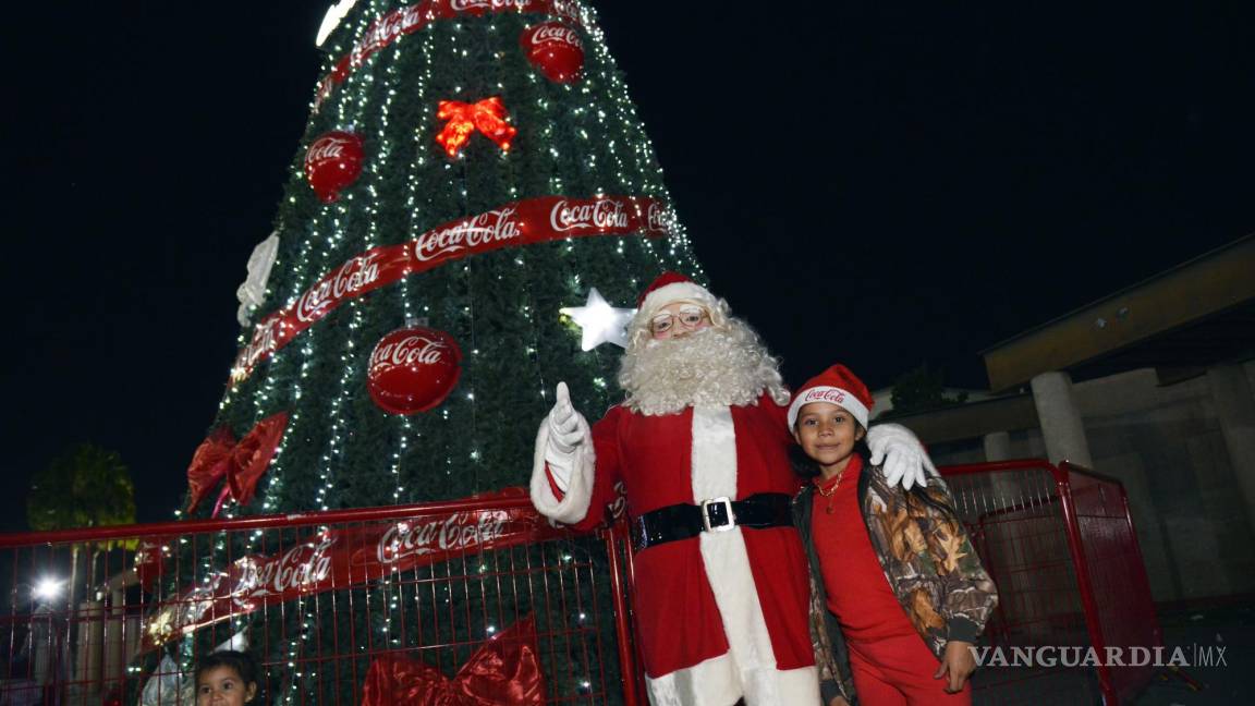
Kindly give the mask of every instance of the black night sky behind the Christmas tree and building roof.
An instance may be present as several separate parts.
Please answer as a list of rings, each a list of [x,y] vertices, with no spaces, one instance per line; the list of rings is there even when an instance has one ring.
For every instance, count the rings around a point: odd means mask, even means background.
[[[142,520],[179,502],[329,4],[8,9],[0,530],[80,440]],[[978,350],[1255,226],[1249,3],[592,4],[712,288],[794,383],[984,386]]]

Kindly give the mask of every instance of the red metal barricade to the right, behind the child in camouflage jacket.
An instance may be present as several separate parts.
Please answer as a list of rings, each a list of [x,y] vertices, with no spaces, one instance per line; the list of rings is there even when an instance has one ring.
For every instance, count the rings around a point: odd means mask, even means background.
[[[940,470],[998,584],[974,701],[1132,698],[1155,667],[1116,662],[1132,661],[1131,647],[1162,647],[1163,636],[1119,481],[1039,460]]]

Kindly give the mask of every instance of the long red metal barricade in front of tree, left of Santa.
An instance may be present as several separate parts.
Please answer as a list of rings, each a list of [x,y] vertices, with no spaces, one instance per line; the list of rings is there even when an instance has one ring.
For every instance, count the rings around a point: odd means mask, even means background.
[[[635,705],[626,544],[622,524],[555,530],[522,492],[0,536],[0,705],[191,703],[188,666],[237,634],[269,703],[356,703],[368,678],[457,682],[478,660],[546,702]]]

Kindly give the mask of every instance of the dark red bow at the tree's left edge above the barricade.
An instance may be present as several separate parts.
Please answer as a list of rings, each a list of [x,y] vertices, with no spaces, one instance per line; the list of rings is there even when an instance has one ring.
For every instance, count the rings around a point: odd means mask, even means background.
[[[284,438],[286,428],[287,412],[280,412],[257,422],[240,443],[236,443],[230,428],[215,430],[196,448],[192,465],[187,467],[187,486],[192,494],[187,511],[195,510],[222,476],[226,476],[227,482],[223,484],[213,514],[210,516],[218,516],[227,497],[240,505],[247,505],[252,500],[257,480],[270,467],[270,460],[275,457],[275,450],[279,448],[279,441]]]

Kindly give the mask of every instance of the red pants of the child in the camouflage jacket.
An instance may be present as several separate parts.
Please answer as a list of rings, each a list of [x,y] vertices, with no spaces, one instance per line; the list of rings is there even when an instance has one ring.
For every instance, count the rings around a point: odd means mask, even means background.
[[[917,634],[848,644],[862,706],[971,706],[970,681],[958,693],[946,693],[949,676],[932,678],[941,665]]]

